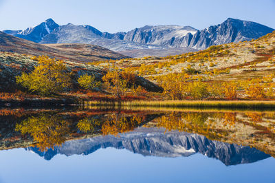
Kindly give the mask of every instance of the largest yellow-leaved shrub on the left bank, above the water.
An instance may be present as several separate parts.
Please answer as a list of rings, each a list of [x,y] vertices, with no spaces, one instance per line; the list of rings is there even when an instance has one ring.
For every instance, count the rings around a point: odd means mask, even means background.
[[[17,84],[30,92],[38,92],[45,96],[70,87],[71,78],[65,64],[47,56],[39,56],[37,60],[39,65],[33,72],[23,72],[21,76],[17,76]]]

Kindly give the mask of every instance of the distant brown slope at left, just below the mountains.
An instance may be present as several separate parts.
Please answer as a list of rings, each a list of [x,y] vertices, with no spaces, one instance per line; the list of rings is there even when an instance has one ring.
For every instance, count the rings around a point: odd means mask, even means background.
[[[47,55],[79,62],[129,58],[128,56],[97,45],[67,44],[46,46],[32,41],[26,41],[25,39],[19,39],[3,32],[0,32],[0,51],[17,52],[19,54],[31,54],[35,56]]]

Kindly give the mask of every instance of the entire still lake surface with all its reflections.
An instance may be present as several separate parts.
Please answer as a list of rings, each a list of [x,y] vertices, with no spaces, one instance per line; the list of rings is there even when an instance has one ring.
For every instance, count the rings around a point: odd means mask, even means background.
[[[275,182],[275,111],[0,109],[0,182]]]

